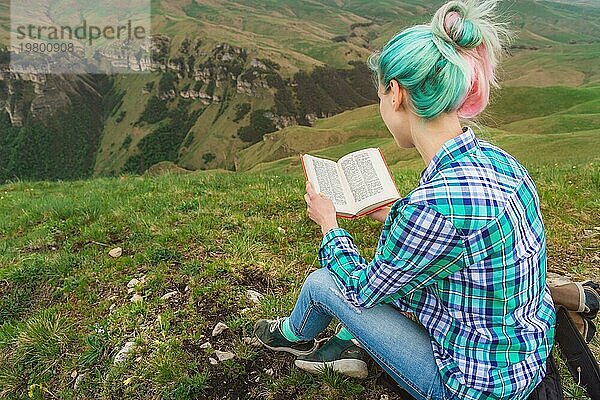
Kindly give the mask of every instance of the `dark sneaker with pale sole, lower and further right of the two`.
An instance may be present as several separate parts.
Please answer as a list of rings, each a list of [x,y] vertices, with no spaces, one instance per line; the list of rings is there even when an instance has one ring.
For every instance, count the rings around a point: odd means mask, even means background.
[[[369,359],[369,354],[352,340],[332,336],[311,354],[299,356],[295,364],[311,373],[321,373],[327,366],[341,374],[364,379],[369,375]]]

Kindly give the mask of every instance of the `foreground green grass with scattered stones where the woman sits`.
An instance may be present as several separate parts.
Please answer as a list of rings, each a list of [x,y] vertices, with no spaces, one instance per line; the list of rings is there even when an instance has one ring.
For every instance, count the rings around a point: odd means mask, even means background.
[[[405,194],[420,167],[400,165],[392,172]],[[529,171],[549,270],[596,278],[598,160]],[[365,381],[313,376],[243,340],[257,319],[288,314],[318,267],[320,232],[303,193],[298,168],[1,186],[0,397],[399,398],[378,383],[376,365]],[[370,259],[381,224],[340,224]],[[114,247],[121,257],[108,255]],[[128,293],[132,278],[140,282]],[[265,296],[255,305],[246,289]],[[218,322],[230,329],[212,338]],[[114,364],[127,341],[135,347]],[[212,365],[215,350],[236,357]],[[572,381],[566,393],[581,398]]]

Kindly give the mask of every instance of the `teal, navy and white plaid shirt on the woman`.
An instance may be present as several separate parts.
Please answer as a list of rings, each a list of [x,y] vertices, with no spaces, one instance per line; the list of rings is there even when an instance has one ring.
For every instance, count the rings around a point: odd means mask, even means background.
[[[371,262],[345,229],[332,228],[319,263],[355,306],[413,312],[459,398],[525,399],[545,374],[556,316],[536,188],[471,128],[392,205]]]

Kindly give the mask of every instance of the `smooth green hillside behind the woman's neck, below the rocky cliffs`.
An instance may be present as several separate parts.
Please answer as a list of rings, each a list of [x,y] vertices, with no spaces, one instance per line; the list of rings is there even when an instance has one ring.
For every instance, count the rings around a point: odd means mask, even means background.
[[[600,149],[600,86],[506,87],[474,125],[485,139],[532,165],[581,163]],[[299,167],[300,153],[337,159],[364,147],[382,148],[389,164],[415,165],[414,150],[401,150],[376,105],[317,120],[314,127],[289,127],[239,152],[240,170]],[[531,151],[531,149],[536,151]]]

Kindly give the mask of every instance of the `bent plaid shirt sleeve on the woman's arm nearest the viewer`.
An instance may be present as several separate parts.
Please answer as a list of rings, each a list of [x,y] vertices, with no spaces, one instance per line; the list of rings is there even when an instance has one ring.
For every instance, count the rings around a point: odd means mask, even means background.
[[[392,302],[464,265],[462,237],[450,220],[427,205],[402,205],[383,238],[367,262],[345,229],[332,228],[323,237],[319,263],[358,307]]]

